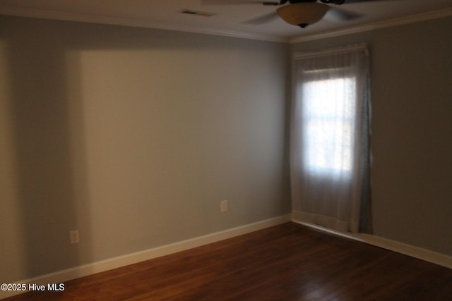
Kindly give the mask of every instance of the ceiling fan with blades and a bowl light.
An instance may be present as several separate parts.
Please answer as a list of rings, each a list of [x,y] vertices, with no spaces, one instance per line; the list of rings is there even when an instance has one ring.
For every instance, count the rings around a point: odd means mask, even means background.
[[[354,20],[362,17],[359,13],[346,11],[338,8],[341,4],[352,4],[358,2],[385,1],[385,0],[279,0],[279,1],[253,1],[253,0],[201,0],[204,5],[225,5],[225,4],[261,4],[264,6],[280,6],[276,11],[248,20],[247,24],[266,23],[273,18],[280,16],[285,22],[299,27],[319,22],[328,12],[328,16],[336,20]],[[328,4],[335,4],[330,6]]]

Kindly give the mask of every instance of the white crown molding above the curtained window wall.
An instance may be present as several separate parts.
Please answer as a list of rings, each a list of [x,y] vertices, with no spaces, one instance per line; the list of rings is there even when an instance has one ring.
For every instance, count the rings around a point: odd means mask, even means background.
[[[410,23],[417,23],[417,22],[422,22],[422,21],[427,21],[427,20],[446,18],[448,16],[452,16],[452,8],[446,8],[446,9],[442,9],[440,11],[432,11],[429,13],[422,13],[422,14],[413,15],[413,16],[406,16],[403,18],[395,18],[395,19],[391,19],[391,20],[384,20],[384,21],[379,21],[379,22],[374,22],[374,23],[369,23],[369,24],[364,24],[364,25],[357,25],[354,27],[347,27],[342,30],[333,30],[333,31],[328,31],[328,32],[322,32],[319,34],[302,35],[299,37],[292,37],[291,39],[289,39],[289,43],[295,44],[295,43],[299,43],[299,42],[313,41],[315,39],[326,39],[328,37],[338,37],[340,35],[350,35],[353,33],[367,32],[370,30],[378,30],[378,29],[386,28],[386,27],[394,27],[394,26],[398,26],[398,25],[406,25],[406,24],[410,24]]]

